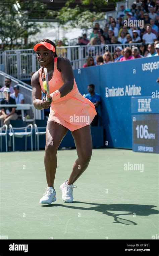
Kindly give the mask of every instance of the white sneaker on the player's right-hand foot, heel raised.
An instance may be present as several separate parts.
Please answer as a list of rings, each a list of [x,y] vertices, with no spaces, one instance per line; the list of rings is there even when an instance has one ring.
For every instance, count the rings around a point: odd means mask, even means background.
[[[74,186],[73,184],[67,185],[66,180],[61,186],[60,190],[62,192],[62,200],[65,201],[66,203],[72,203],[73,201],[73,188],[77,188],[77,186]]]

